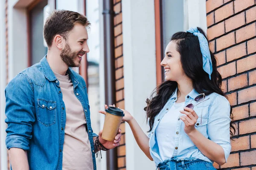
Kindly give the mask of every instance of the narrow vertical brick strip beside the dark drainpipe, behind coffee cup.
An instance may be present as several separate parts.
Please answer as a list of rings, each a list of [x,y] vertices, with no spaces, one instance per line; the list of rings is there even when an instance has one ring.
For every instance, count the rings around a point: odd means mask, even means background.
[[[116,68],[116,106],[125,108],[124,99],[124,68],[122,53],[122,2],[121,0],[113,0],[114,4],[114,36],[115,36],[115,68]],[[125,123],[122,122],[122,139],[120,146],[117,148],[117,165],[118,170],[125,170]]]

